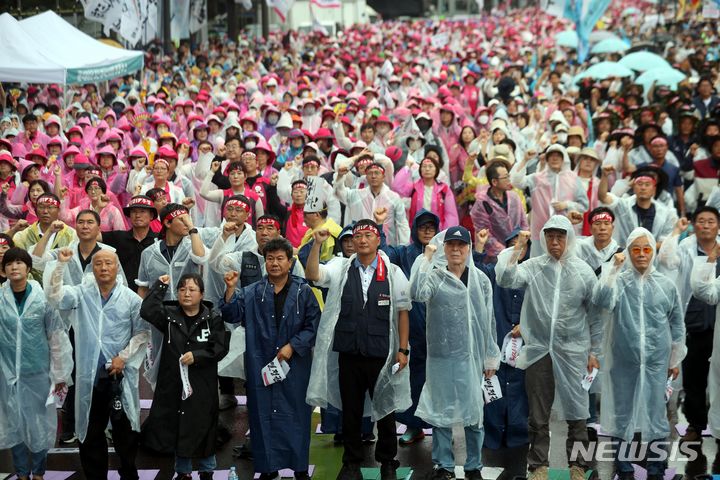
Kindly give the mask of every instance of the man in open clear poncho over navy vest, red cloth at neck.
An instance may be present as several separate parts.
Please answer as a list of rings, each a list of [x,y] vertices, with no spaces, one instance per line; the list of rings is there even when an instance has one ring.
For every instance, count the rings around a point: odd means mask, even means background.
[[[361,423],[365,396],[378,424],[375,459],[382,480],[396,480],[398,466],[394,412],[410,406],[408,282],[400,268],[378,251],[380,228],[359,220],[353,228],[356,254],[320,265],[327,230],[314,233],[306,278],[328,288],[307,402],[343,412],[343,467],[338,480],[361,480],[364,460]],[[322,338],[321,338],[322,335]],[[338,372],[328,375],[328,372]]]

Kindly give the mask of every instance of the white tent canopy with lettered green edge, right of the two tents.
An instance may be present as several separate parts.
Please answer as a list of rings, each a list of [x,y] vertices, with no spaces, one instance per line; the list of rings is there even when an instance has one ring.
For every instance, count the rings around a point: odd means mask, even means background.
[[[65,66],[65,82],[110,80],[140,70],[143,52],[111,47],[70,25],[48,10],[19,22],[43,52]]]

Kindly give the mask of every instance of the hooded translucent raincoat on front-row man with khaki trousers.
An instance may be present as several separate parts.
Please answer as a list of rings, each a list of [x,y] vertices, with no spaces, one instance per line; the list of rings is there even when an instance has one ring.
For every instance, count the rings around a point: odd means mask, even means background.
[[[595,273],[575,255],[575,233],[570,220],[550,217],[543,231],[567,232],[565,252],[560,260],[547,253],[545,235],[540,244],[545,252],[518,265],[514,248],[503,250],[495,267],[497,283],[505,288],[524,288],[520,331],[525,346],[517,367],[526,369],[550,355],[555,378],[555,407],[560,420],[589,417],[588,396],[581,381],[587,374],[588,356],[596,357],[602,336],[597,315],[588,315]],[[592,341],[591,341],[592,339]]]

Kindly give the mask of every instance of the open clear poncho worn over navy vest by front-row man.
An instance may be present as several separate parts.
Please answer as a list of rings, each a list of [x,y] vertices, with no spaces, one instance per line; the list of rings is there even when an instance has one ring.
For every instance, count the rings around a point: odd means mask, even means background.
[[[392,299],[390,302],[390,322],[388,322],[390,324],[390,351],[385,360],[385,365],[378,375],[372,402],[365,402],[365,416],[370,415],[373,421],[385,418],[395,411],[404,412],[412,405],[410,399],[410,369],[403,368],[395,375],[392,374],[392,366],[396,362],[396,354],[398,348],[400,348],[397,330],[398,314],[400,310],[410,311],[412,303],[408,292],[405,292],[406,298],[397,298],[394,295],[396,291],[393,287],[395,276],[399,274],[402,275],[402,278],[405,278],[405,275],[399,267],[390,263],[390,259],[385,252],[380,251],[379,254],[388,269],[387,278],[390,282]],[[319,282],[315,282],[315,285],[327,287],[329,291],[315,339],[313,365],[305,400],[308,405],[321,408],[332,405],[342,410],[338,382],[338,353],[333,351],[332,346],[335,338],[335,325],[337,324],[338,315],[340,315],[341,293],[348,279],[348,270],[355,268],[353,267],[355,257],[356,255],[352,255],[350,258],[337,258],[329,264],[320,265],[321,279]],[[368,409],[369,404],[371,404],[370,409]]]

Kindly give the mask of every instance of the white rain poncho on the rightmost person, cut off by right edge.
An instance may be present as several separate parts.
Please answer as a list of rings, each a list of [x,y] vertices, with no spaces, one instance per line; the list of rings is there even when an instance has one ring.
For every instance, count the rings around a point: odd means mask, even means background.
[[[690,276],[692,294],[705,303],[717,305],[720,303],[720,277],[715,278],[715,262],[708,263],[706,257],[699,257]],[[710,433],[720,439],[720,309],[715,314],[715,334],[713,337],[713,350],[710,356],[710,374],[708,375],[708,397],[710,410],[708,411],[708,426]]]

